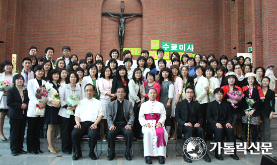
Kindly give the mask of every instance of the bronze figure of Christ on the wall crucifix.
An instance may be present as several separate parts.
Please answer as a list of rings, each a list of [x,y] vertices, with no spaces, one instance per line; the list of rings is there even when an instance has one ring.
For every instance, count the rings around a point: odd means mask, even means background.
[[[134,16],[137,16],[138,13],[129,16],[129,17],[124,17],[122,13],[119,13],[119,17],[116,17],[114,15],[111,15],[110,13],[106,13],[107,15],[110,15],[111,17],[117,18],[119,20],[119,26],[118,26],[118,37],[119,37],[119,44],[120,44],[120,49],[123,49],[123,41],[124,41],[124,34],[125,34],[125,20],[128,18],[132,18]]]

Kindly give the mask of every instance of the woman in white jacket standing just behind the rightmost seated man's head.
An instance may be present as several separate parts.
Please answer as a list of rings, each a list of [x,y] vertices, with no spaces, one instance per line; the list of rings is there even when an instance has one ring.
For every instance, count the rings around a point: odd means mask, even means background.
[[[209,87],[204,87],[205,91],[208,93],[209,102],[215,101],[214,90],[220,88],[220,82],[218,78],[215,77],[215,70],[212,66],[206,66],[205,68],[206,78],[209,81]]]

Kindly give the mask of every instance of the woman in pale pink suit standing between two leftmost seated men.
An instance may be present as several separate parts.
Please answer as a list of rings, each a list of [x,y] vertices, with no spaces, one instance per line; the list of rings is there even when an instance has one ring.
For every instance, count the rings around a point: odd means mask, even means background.
[[[111,102],[111,99],[115,99],[116,94],[111,94],[112,91],[112,74],[111,74],[111,67],[110,66],[105,66],[100,75],[100,79],[98,80],[98,87],[99,91],[101,93],[99,100],[103,105],[103,113],[104,116],[102,118],[102,126],[101,126],[101,131],[102,133],[102,140],[107,141],[105,137],[105,133],[107,132],[104,131],[104,125],[107,124],[107,110],[109,108],[109,103]]]

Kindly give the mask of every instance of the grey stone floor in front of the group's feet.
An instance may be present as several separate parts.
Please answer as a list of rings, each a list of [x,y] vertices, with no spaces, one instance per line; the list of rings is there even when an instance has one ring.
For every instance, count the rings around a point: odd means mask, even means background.
[[[47,152],[46,150],[43,150],[44,153],[38,154],[38,155],[32,155],[30,153],[27,154],[19,154],[18,156],[12,156],[10,149],[0,149],[0,164],[101,164],[101,165],[120,165],[120,164],[126,164],[129,165],[130,163],[132,165],[135,164],[147,164],[145,163],[145,159],[142,157],[142,151],[141,150],[134,150],[134,157],[131,161],[128,161],[124,157],[124,151],[116,151],[116,158],[112,161],[107,160],[107,151],[103,151],[100,158],[97,160],[90,159],[89,151],[83,151],[83,157],[81,157],[79,160],[72,160],[71,155],[64,154],[62,152],[58,152],[57,154]],[[255,153],[258,153],[256,151]],[[181,156],[176,156],[178,153],[175,150],[168,150],[168,157],[165,159],[166,164],[189,164],[183,160]],[[272,151],[272,157],[277,155],[277,151],[273,149]],[[234,160],[229,155],[224,155],[224,160],[217,160],[214,156],[211,156],[212,162],[207,163],[203,159],[200,160],[193,160],[190,164],[234,164],[240,165],[240,164],[260,164],[261,161],[261,151],[258,155],[250,155],[249,152],[247,152],[247,155],[244,155],[243,153],[238,153],[238,156],[240,157],[240,160]],[[159,160],[157,157],[152,158],[153,164],[159,164]],[[268,164],[270,165],[270,164]]]

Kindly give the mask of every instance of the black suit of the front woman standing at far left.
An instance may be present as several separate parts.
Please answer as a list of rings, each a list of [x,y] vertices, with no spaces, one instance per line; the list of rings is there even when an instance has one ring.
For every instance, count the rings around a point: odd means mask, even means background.
[[[29,103],[27,90],[23,90],[23,103]],[[11,134],[11,150],[12,152],[21,152],[23,148],[23,140],[25,134],[27,109],[21,109],[22,99],[17,87],[8,90],[7,106],[9,106],[8,117],[10,118],[10,134]],[[23,114],[24,112],[24,114]]]

